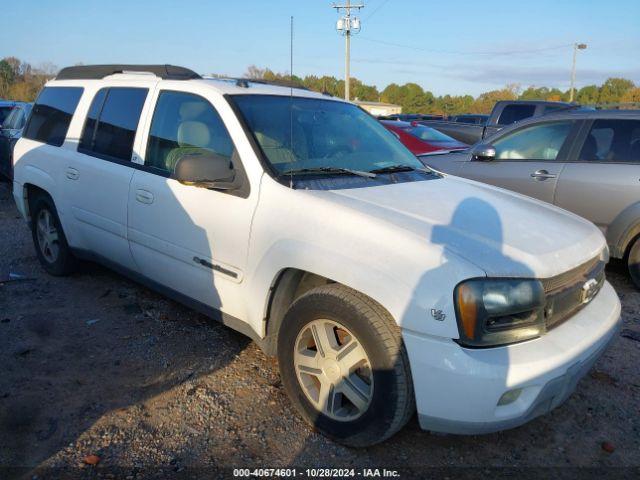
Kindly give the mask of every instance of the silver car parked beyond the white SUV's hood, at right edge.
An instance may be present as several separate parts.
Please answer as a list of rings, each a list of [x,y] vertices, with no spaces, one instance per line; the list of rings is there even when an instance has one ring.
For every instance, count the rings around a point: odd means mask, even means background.
[[[469,150],[421,160],[592,221],[640,287],[640,111],[568,110],[519,122]]]

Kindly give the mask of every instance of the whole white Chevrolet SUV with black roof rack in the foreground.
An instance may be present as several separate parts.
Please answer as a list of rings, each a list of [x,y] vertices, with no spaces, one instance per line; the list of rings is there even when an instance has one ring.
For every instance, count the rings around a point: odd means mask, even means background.
[[[14,197],[54,275],[105,263],[277,355],[329,437],[520,425],[619,326],[591,223],[422,167],[358,107],[172,66],[66,68]]]

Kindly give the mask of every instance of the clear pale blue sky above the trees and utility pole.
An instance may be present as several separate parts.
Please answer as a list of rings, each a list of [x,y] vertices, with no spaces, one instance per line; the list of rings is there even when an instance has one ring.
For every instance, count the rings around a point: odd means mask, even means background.
[[[357,3],[353,0],[352,3]],[[519,84],[569,88],[621,76],[640,85],[640,0],[363,0],[351,75],[382,89],[415,82],[436,95]],[[8,0],[0,58],[171,63],[242,76],[249,65],[344,76],[344,38],[326,0]]]

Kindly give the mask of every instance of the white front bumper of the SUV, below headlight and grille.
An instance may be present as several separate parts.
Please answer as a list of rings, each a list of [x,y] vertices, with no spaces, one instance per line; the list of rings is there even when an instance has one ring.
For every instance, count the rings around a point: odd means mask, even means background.
[[[620,301],[605,282],[589,305],[541,338],[466,349],[404,331],[420,426],[480,434],[517,427],[562,404],[620,327]],[[498,405],[507,392],[517,400]]]

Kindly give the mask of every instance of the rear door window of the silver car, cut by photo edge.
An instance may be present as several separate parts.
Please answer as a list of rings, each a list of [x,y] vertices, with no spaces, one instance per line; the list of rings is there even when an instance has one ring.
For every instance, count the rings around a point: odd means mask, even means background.
[[[640,120],[595,120],[579,160],[640,163]]]

